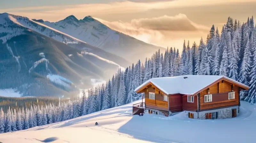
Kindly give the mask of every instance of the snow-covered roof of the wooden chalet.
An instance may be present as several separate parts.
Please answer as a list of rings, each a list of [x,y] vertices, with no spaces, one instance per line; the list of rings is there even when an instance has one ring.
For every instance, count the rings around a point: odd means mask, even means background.
[[[219,75],[184,75],[176,77],[164,77],[164,78],[153,78],[144,82],[142,85],[137,87],[134,91],[139,91],[142,87],[148,83],[152,83],[154,86],[159,88],[165,94],[188,94],[193,95],[205,87],[211,85],[217,80],[226,79],[241,87],[249,88],[248,86],[230,79],[226,76]]]

